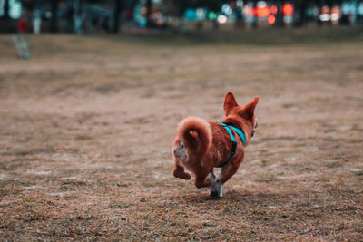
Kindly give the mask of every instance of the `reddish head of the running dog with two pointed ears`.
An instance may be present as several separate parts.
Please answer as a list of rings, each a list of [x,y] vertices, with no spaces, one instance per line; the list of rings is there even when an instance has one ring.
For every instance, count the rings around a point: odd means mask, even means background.
[[[255,116],[255,108],[259,102],[259,97],[254,97],[247,105],[240,106],[232,92],[228,92],[224,98],[224,113],[226,119],[223,122],[231,122],[240,126],[243,131],[250,132],[253,136],[257,126],[259,125]]]

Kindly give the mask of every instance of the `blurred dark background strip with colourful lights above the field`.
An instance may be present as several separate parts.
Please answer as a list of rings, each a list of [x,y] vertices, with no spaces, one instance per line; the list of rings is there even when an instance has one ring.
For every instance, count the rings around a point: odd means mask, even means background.
[[[359,0],[0,0],[0,32],[296,28],[363,23]]]

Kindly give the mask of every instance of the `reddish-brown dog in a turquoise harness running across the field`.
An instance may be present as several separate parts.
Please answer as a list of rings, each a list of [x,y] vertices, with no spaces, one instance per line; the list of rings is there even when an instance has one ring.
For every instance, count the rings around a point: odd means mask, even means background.
[[[191,179],[187,169],[194,173],[198,189],[211,187],[211,196],[222,198],[223,184],[239,169],[244,148],[258,126],[254,114],[258,102],[256,96],[247,105],[240,106],[233,93],[228,92],[223,104],[226,117],[221,122],[198,117],[182,120],[172,141],[173,176]],[[216,167],[221,167],[217,178],[213,173]]]

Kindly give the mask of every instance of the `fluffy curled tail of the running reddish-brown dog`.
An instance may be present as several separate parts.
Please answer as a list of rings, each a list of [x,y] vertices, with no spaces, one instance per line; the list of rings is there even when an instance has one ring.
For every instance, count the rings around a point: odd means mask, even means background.
[[[200,159],[211,149],[211,125],[197,117],[188,117],[181,121],[178,136],[182,138],[190,155]]]

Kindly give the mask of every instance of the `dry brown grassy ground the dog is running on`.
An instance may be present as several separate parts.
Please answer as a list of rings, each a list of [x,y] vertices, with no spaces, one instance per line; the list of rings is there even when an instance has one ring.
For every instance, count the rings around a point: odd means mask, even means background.
[[[1,240],[363,240],[361,40],[130,38],[27,36],[23,61],[0,36]],[[212,199],[170,144],[228,91],[260,125]]]

